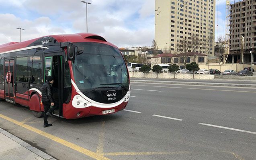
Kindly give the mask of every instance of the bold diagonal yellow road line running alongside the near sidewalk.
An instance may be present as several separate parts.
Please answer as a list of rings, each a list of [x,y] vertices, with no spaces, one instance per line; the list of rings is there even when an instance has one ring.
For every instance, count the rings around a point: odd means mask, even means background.
[[[80,152],[80,153],[82,153],[82,154],[85,154],[86,156],[89,156],[89,157],[91,157],[91,158],[94,158],[94,159],[96,159],[96,160],[110,160],[109,158],[106,158],[106,157],[104,157],[104,156],[102,156],[102,155],[100,155],[100,154],[97,154],[97,153],[95,153],[95,152],[92,152],[92,151],[90,151],[90,150],[87,150],[87,149],[85,149],[85,148],[82,148],[82,147],[80,147],[80,146],[78,146],[78,145],[76,145],[76,144],[73,144],[73,143],[71,143],[71,142],[68,142],[68,141],[66,141],[66,140],[63,140],[63,139],[61,139],[61,138],[59,138],[59,137],[53,136],[53,135],[51,135],[51,134],[49,134],[49,133],[46,133],[46,132],[44,132],[44,131],[42,131],[42,130],[39,130],[39,129],[37,129],[37,128],[34,128],[34,127],[29,126],[29,125],[27,125],[27,124],[24,124],[24,123],[22,123],[22,122],[18,122],[18,121],[16,121],[16,120],[14,120],[14,119],[12,119],[12,118],[9,118],[9,117],[7,117],[7,116],[4,116],[4,115],[2,115],[2,114],[0,114],[0,117],[1,117],[1,118],[4,118],[5,120],[8,120],[8,121],[10,121],[10,122],[12,122],[12,123],[14,123],[14,124],[17,124],[18,126],[22,126],[22,127],[26,128],[26,129],[28,129],[28,130],[31,130],[31,131],[33,131],[33,132],[35,132],[35,133],[37,133],[37,134],[40,134],[40,135],[42,135],[42,136],[44,136],[44,137],[46,137],[46,138],[49,138],[49,139],[51,139],[51,140],[53,140],[53,141],[55,141],[55,142],[58,142],[59,144],[62,144],[62,145],[64,145],[64,146],[67,146],[67,147],[69,147],[69,148],[71,148],[71,149],[73,149],[73,150],[76,150],[76,151],[78,151],[78,152]]]

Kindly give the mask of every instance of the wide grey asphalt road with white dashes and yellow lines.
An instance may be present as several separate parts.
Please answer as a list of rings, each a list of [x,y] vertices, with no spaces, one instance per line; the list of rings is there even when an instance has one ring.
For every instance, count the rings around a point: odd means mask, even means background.
[[[96,159],[91,152],[111,160],[255,160],[256,89],[134,82],[131,88],[124,111],[49,117],[48,128],[27,108],[0,102],[0,126],[59,160]]]

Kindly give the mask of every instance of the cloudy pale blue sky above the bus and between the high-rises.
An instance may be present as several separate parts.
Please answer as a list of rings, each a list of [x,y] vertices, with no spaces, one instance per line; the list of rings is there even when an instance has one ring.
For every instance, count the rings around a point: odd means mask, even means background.
[[[118,47],[151,46],[155,0],[87,0],[88,32]],[[219,12],[217,14],[217,4]],[[80,0],[0,0],[0,44],[52,34],[86,32],[86,7]],[[218,16],[218,17],[217,17]],[[216,0],[215,33],[225,34],[225,0]],[[215,38],[216,39],[216,38]]]

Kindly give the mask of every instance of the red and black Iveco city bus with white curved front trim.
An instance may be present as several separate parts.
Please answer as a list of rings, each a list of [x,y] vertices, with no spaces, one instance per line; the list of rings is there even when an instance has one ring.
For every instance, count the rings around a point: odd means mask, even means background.
[[[75,119],[123,110],[130,79],[117,46],[96,34],[52,35],[0,45],[0,98],[43,116],[41,86],[53,76],[55,116]]]

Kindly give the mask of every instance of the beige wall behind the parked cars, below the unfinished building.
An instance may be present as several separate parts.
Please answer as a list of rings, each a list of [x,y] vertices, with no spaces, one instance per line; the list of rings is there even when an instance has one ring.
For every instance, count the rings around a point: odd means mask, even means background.
[[[251,67],[250,64],[206,64],[206,65],[198,65],[200,69],[217,69],[221,72],[224,72],[225,70],[234,70],[236,72],[239,72],[240,70],[244,70],[245,67]],[[256,65],[252,65],[252,68],[256,70]]]

